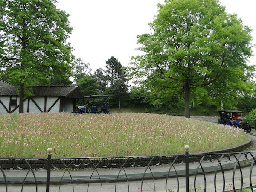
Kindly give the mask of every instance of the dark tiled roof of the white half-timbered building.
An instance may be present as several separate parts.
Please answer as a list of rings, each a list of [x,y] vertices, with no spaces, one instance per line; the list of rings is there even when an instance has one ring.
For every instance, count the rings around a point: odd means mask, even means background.
[[[68,98],[82,99],[78,86],[30,86],[28,87],[34,96],[65,96]],[[0,86],[0,96],[18,96],[18,90],[14,86]]]

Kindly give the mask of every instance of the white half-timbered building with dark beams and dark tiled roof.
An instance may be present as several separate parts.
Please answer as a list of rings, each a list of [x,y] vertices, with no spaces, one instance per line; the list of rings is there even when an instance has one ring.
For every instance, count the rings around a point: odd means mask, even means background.
[[[24,99],[24,113],[70,112],[81,99],[78,86],[31,86],[33,96]],[[0,81],[0,114],[19,111],[16,87]]]

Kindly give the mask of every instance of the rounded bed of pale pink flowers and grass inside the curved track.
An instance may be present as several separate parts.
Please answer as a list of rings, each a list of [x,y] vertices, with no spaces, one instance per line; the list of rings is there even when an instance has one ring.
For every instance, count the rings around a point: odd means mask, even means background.
[[[23,113],[0,116],[0,157],[112,157],[183,154],[243,143],[240,129],[149,113],[73,115]]]

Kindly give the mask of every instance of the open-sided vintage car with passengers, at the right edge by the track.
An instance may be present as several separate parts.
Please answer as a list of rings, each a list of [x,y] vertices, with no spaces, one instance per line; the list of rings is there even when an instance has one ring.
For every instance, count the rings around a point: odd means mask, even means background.
[[[248,133],[250,133],[252,129],[255,129],[255,127],[251,126],[250,123],[243,118],[243,111],[223,109],[218,112],[220,114],[221,124],[241,128]]]

